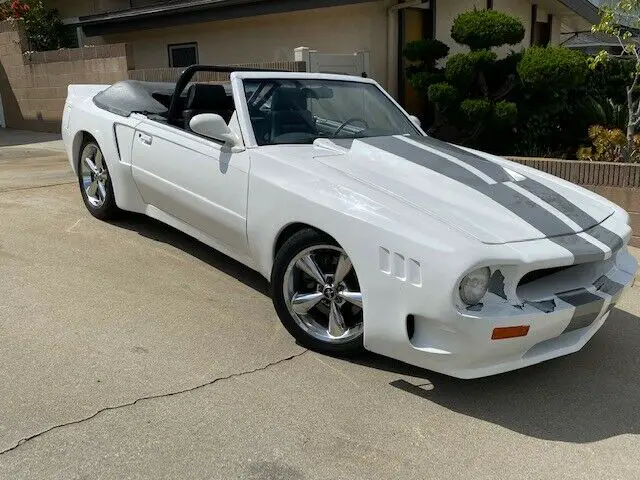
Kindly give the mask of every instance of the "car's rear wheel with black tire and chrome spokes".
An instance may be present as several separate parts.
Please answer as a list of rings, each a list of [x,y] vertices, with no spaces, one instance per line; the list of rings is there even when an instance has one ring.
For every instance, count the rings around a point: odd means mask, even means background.
[[[80,148],[78,183],[84,204],[91,215],[100,220],[111,220],[117,216],[119,210],[111,175],[102,150],[93,138],[85,140]]]

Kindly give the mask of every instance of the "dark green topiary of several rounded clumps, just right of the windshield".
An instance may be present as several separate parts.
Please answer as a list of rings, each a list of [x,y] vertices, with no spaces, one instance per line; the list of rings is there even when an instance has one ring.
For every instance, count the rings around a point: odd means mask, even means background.
[[[519,57],[498,60],[491,48],[519,43],[524,27],[504,13],[476,10],[459,15],[451,35],[469,51],[451,55],[444,71],[437,69],[437,62],[430,63],[444,48],[427,43],[405,50],[408,60],[422,59],[422,75],[428,75],[425,81],[414,71],[410,82],[433,106],[430,133],[477,146],[495,144],[517,119],[518,108],[507,96],[515,85]]]

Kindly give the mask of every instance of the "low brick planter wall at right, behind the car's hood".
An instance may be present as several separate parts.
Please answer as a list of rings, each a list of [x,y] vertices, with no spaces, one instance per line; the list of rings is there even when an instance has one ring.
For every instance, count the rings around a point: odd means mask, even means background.
[[[640,164],[511,158],[582,185],[620,205],[631,215],[631,245],[640,247]]]

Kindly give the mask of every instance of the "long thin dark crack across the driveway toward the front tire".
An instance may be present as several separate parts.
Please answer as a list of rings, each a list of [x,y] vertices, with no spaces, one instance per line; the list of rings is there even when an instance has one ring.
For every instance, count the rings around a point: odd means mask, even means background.
[[[24,437],[24,438],[20,439],[20,441],[18,443],[16,443],[15,445],[13,445],[12,447],[9,447],[9,448],[6,448],[6,449],[0,451],[0,456],[4,455],[5,453],[12,452],[12,451],[20,448],[21,446],[23,446],[27,442],[30,442],[31,440],[34,440],[34,439],[36,439],[38,437],[46,435],[47,433],[50,433],[50,432],[52,432],[54,430],[58,430],[60,428],[68,427],[68,426],[71,426],[71,425],[79,425],[81,423],[88,422],[89,420],[93,420],[94,418],[99,416],[101,413],[109,412],[111,410],[120,410],[120,409],[123,409],[123,408],[133,407],[134,405],[137,405],[138,403],[141,403],[141,402],[146,402],[147,400],[157,400],[159,398],[175,397],[175,396],[182,395],[182,394],[185,394],[185,393],[194,392],[196,390],[200,390],[200,389],[205,388],[205,387],[209,387],[209,386],[211,386],[211,385],[213,385],[215,383],[221,382],[223,380],[231,380],[232,378],[243,377],[245,375],[251,375],[252,373],[257,373],[257,372],[263,372],[265,370],[268,370],[268,369],[270,369],[272,367],[275,367],[277,365],[280,365],[282,363],[286,363],[286,362],[294,360],[294,359],[296,359],[298,357],[301,357],[302,355],[304,355],[308,351],[309,350],[305,350],[305,351],[303,351],[301,353],[296,353],[295,355],[291,355],[289,357],[282,358],[280,360],[276,360],[274,362],[267,363],[266,365],[264,365],[262,367],[254,368],[253,370],[246,370],[244,372],[232,373],[232,374],[226,375],[224,377],[217,377],[217,378],[214,378],[213,380],[210,380],[210,381],[208,381],[206,383],[202,383],[200,385],[196,385],[195,387],[185,388],[184,390],[177,390],[175,392],[160,393],[160,394],[157,394],[157,395],[149,395],[149,396],[146,396],[146,397],[137,398],[136,400],[134,400],[132,402],[122,403],[120,405],[113,405],[113,406],[110,406],[110,407],[103,407],[100,410],[98,410],[95,413],[93,413],[92,415],[89,415],[88,417],[84,417],[84,418],[81,418],[79,420],[72,420],[70,422],[60,423],[60,424],[54,425],[52,427],[49,427],[46,430],[42,430],[41,432],[34,433],[33,435],[30,435],[28,437]]]

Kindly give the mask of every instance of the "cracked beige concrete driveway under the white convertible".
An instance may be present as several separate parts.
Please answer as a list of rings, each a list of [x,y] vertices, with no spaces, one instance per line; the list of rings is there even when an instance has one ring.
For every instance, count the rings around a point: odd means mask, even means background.
[[[266,291],[2,149],[0,478],[640,478],[638,288],[578,354],[476,381],[306,352]]]

